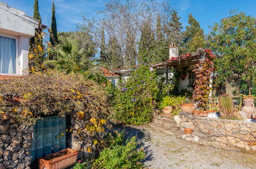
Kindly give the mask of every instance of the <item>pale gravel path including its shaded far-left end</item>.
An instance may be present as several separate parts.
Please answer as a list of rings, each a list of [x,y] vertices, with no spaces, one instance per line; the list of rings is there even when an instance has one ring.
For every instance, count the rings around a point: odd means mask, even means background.
[[[255,168],[256,153],[232,152],[194,144],[156,131],[150,126],[126,126],[127,137],[137,135],[146,168]]]

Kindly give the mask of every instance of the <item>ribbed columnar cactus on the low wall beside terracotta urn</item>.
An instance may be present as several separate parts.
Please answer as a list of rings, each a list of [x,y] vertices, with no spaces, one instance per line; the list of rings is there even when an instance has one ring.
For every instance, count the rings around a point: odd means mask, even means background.
[[[234,104],[231,96],[228,94],[221,95],[219,99],[221,117],[234,116]]]

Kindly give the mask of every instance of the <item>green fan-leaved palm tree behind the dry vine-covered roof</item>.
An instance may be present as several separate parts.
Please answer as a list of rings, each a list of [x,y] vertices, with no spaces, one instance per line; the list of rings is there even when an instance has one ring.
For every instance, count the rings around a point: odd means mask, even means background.
[[[57,46],[52,46],[49,53],[53,60],[46,60],[44,63],[58,71],[67,73],[82,73],[86,79],[99,82],[105,78],[101,70],[97,68],[97,62],[93,60],[94,50],[78,46],[79,42],[71,37],[62,37]]]

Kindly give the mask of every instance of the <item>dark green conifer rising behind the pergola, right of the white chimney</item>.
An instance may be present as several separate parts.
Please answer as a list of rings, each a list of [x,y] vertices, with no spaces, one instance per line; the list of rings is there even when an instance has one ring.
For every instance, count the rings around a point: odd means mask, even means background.
[[[204,41],[204,31],[203,31],[203,29],[200,28],[199,22],[193,17],[193,15],[191,13],[188,15],[188,24],[189,24],[189,26],[186,26],[186,31],[183,33],[183,35],[184,35],[183,46],[185,48],[184,53],[187,53],[189,51],[189,46],[191,46],[191,45],[196,46],[193,43],[191,44],[191,41],[194,36],[197,36],[196,37],[197,40],[194,39],[194,41],[196,43],[204,44],[204,42],[203,42]],[[198,47],[200,47],[200,46],[198,46]],[[192,48],[190,47],[190,51],[193,48],[194,47],[192,47]],[[195,51],[191,51],[191,52],[195,52]]]

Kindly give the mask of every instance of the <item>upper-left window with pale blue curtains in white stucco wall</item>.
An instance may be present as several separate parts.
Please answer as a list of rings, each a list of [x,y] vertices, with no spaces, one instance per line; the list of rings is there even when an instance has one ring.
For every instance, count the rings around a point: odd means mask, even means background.
[[[0,34],[0,74],[16,74],[18,37]]]

